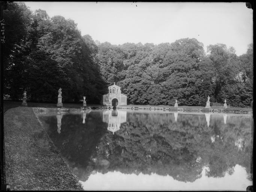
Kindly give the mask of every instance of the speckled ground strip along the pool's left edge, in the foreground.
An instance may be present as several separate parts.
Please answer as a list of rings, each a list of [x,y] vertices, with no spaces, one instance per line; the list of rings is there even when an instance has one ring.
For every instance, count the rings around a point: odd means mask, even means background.
[[[31,107],[7,110],[4,130],[10,190],[83,190]]]

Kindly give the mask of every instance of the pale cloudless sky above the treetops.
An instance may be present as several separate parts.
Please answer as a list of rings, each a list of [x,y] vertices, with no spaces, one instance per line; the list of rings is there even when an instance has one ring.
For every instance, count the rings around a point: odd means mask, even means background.
[[[196,38],[205,46],[233,46],[244,54],[253,43],[253,10],[245,3],[185,2],[40,2],[25,1],[31,10],[46,10],[77,23],[81,35],[111,44],[165,43]]]

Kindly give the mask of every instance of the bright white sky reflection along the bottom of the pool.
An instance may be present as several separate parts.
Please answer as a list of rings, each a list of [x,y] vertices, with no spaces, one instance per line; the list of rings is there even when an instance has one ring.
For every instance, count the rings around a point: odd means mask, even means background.
[[[85,190],[239,190],[243,191],[252,185],[249,181],[245,168],[240,165],[234,167],[232,175],[226,173],[224,177],[208,177],[203,167],[202,177],[193,182],[175,180],[166,175],[123,174],[119,171],[107,172],[106,174],[91,174],[86,182],[80,181]],[[100,181],[100,185],[99,185]],[[232,183],[232,185],[230,185]],[[246,190],[245,190],[246,191]]]

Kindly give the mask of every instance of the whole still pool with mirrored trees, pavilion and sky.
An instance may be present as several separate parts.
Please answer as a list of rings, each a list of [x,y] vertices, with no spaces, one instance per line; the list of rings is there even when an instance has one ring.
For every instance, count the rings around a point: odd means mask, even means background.
[[[243,190],[250,114],[105,110],[37,114],[85,190]]]

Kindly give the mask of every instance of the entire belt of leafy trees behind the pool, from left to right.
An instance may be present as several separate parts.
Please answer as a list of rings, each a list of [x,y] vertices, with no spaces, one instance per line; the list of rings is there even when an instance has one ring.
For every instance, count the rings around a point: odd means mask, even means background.
[[[5,98],[30,101],[99,104],[114,82],[128,104],[205,106],[211,102],[234,107],[253,101],[253,44],[237,56],[233,47],[208,46],[197,39],[172,43],[94,41],[81,35],[73,20],[50,18],[44,10],[32,12],[24,3],[8,3],[4,10],[6,43],[3,47]],[[89,27],[89,26],[88,26]]]

